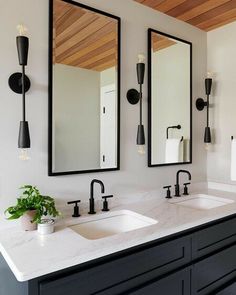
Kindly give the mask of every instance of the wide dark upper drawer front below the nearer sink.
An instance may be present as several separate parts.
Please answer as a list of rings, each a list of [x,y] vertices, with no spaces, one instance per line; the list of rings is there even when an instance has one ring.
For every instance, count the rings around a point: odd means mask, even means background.
[[[155,270],[159,275],[188,263],[191,259],[191,240],[184,237],[165,244],[129,254],[113,261],[91,267],[63,278],[40,283],[40,295],[92,294],[135,276]]]

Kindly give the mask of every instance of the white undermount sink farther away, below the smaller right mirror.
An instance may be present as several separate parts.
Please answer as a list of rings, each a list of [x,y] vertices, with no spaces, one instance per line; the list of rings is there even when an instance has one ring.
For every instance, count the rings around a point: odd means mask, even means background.
[[[234,201],[205,194],[196,194],[188,196],[184,200],[179,200],[174,203],[194,209],[210,210],[216,207],[232,204]]]

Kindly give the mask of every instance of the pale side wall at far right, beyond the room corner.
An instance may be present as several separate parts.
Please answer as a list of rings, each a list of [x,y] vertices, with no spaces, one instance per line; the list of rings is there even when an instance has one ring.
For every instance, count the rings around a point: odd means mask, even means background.
[[[209,32],[207,43],[208,70],[214,73],[208,180],[236,184],[230,181],[230,138],[236,137],[236,22]]]

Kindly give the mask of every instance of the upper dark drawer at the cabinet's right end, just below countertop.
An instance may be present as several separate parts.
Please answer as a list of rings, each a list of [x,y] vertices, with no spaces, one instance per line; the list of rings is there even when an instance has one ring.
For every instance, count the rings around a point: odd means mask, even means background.
[[[193,234],[192,257],[200,258],[236,242],[236,218]]]

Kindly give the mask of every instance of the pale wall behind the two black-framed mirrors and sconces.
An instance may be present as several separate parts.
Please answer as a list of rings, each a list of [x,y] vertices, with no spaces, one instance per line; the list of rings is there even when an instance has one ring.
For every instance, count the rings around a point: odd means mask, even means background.
[[[139,106],[126,100],[128,89],[137,87],[135,64],[140,52],[147,52],[147,29],[152,27],[193,42],[193,98],[204,94],[206,73],[206,33],[192,26],[127,0],[83,0],[85,4],[122,18],[121,61],[121,170],[65,177],[47,176],[48,117],[48,0],[2,1],[0,9],[0,210],[15,201],[17,188],[25,183],[38,185],[44,193],[62,199],[87,200],[89,183],[97,177],[107,193],[121,195],[174,184],[179,168],[191,170],[193,181],[206,180],[206,153],[202,142],[205,114],[193,107],[193,165],[148,168],[147,156],[137,153],[136,131]],[[31,160],[18,160],[17,137],[21,119],[21,97],[8,87],[8,77],[20,67],[17,61],[16,25],[29,28],[29,74],[32,87],[27,95],[30,124]],[[146,83],[146,81],[145,81]],[[147,126],[147,91],[144,87],[144,123]],[[147,131],[147,130],[146,130]],[[146,133],[147,134],[147,133]]]

